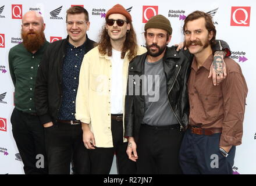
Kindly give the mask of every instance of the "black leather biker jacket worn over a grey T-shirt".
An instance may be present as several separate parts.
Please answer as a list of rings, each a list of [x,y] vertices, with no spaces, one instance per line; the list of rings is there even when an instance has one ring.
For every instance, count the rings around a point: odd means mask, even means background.
[[[229,46],[224,41],[221,41],[221,45],[219,45],[219,42],[216,42],[215,49],[222,50],[222,48],[226,50],[227,48],[229,49]],[[176,47],[166,47],[165,55],[163,56],[163,70],[166,76],[166,91],[169,104],[182,128],[186,128],[189,124],[187,80],[189,79],[193,57],[194,55],[191,55],[188,50],[177,52]],[[129,75],[143,75],[146,58],[147,53],[144,53],[131,60],[129,64]],[[141,90],[141,82],[140,78],[128,78],[125,99],[125,137],[134,137],[136,141],[138,140],[138,133],[145,112],[145,101]],[[139,95],[136,94],[136,88],[140,90]]]

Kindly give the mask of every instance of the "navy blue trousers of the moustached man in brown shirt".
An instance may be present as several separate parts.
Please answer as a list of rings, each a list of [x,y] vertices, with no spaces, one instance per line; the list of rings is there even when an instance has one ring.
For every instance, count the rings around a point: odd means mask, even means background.
[[[227,157],[219,151],[221,133],[197,135],[188,129],[180,148],[180,166],[184,174],[232,174],[236,146]]]

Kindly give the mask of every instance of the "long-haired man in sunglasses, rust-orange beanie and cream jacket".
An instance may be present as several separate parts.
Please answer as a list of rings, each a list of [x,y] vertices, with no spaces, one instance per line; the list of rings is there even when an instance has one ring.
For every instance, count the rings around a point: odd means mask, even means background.
[[[109,174],[114,154],[119,174],[136,173],[135,162],[126,155],[123,114],[129,62],[145,52],[137,45],[130,13],[122,5],[113,6],[98,47],[84,56],[76,97],[75,116],[90,149],[92,174]]]

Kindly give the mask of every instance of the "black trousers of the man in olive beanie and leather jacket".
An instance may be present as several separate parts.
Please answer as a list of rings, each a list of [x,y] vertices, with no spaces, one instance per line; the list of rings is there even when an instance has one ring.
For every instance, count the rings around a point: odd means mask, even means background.
[[[182,138],[180,129],[141,124],[137,174],[181,174],[178,158]]]

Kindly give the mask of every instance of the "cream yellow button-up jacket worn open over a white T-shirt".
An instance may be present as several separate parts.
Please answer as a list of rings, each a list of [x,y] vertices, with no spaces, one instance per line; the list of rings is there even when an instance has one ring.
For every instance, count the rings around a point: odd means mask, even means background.
[[[138,47],[137,55],[146,51],[144,47]],[[123,62],[123,112],[125,111],[129,62],[126,52]],[[107,55],[101,55],[98,47],[86,53],[81,64],[75,116],[77,120],[89,124],[97,147],[113,147],[111,133],[111,58]],[[126,142],[126,138],[123,138],[123,141]]]

